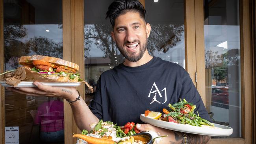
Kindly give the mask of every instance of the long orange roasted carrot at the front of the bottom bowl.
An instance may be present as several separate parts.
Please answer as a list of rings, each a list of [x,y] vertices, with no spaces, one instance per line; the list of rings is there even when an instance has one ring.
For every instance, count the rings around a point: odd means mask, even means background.
[[[115,141],[113,141],[113,140],[89,137],[87,135],[82,135],[82,134],[75,134],[75,135],[73,135],[73,137],[81,138],[81,139],[87,141],[89,144],[115,144]]]

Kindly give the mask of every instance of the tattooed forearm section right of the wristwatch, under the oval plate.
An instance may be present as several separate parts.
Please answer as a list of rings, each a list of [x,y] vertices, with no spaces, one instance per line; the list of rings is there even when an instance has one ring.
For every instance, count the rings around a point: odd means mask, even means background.
[[[211,136],[187,134],[188,144],[210,144]]]

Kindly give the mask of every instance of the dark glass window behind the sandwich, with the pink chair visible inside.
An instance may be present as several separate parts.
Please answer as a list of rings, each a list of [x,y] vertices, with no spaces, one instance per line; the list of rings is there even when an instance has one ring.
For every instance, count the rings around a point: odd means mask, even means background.
[[[61,0],[4,0],[5,70],[19,67],[25,55],[62,58],[62,35]],[[63,100],[5,94],[5,126],[19,127],[20,144],[64,142]]]

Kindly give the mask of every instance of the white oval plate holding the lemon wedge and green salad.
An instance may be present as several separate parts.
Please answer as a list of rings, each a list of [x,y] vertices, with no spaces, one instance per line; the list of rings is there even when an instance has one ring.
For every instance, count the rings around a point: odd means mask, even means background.
[[[161,127],[164,129],[171,129],[174,131],[181,131],[185,133],[194,133],[198,135],[211,135],[211,136],[217,136],[217,137],[224,137],[229,136],[233,133],[233,129],[228,126],[223,126],[220,124],[214,124],[214,128],[210,126],[203,126],[203,127],[197,127],[197,126],[191,126],[188,124],[176,124],[173,122],[165,122],[162,120],[156,120],[153,118],[145,117],[144,114],[141,114],[140,119],[147,123],[151,124],[153,126]]]

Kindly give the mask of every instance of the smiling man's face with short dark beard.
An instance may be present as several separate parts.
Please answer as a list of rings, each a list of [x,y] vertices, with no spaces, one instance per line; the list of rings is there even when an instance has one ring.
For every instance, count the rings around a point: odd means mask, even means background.
[[[147,50],[150,25],[137,12],[127,12],[115,19],[111,36],[121,54],[131,62],[136,62]]]

